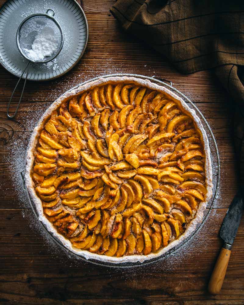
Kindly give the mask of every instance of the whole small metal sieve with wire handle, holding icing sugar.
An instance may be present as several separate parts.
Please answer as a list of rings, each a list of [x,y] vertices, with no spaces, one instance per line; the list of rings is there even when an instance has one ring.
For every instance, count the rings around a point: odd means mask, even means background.
[[[17,82],[13,93],[11,95],[11,98],[9,100],[8,108],[7,108],[7,116],[9,118],[13,118],[20,106],[20,102],[23,96],[25,84],[28,77],[29,67],[30,63],[47,63],[56,56],[59,55],[60,51],[63,48],[63,42],[64,42],[64,35],[63,35],[63,29],[58,23],[58,21],[54,18],[55,12],[53,9],[48,9],[45,14],[34,14],[28,16],[26,19],[24,19],[20,26],[18,27],[17,34],[16,34],[16,44],[17,47],[21,53],[21,55],[28,60],[27,66],[23,70],[19,81]],[[37,38],[40,38],[41,34],[47,34],[51,36],[51,40],[53,42],[52,49],[50,49],[50,45],[44,45],[44,51],[43,52],[37,52],[35,49],[35,41],[37,41]],[[17,105],[16,111],[13,116],[9,115],[9,106],[11,103],[11,100],[13,98],[14,92],[23,77],[24,73],[26,72],[26,77],[22,89],[22,93],[20,96],[19,103]]]

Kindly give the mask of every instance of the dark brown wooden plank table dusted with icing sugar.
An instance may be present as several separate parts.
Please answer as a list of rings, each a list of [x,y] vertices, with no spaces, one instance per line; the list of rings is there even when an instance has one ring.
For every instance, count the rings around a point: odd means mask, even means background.
[[[28,82],[14,120],[7,119],[6,105],[17,78],[0,67],[0,303],[243,304],[243,218],[221,294],[210,296],[206,290],[222,243],[218,232],[237,190],[232,101],[210,71],[182,75],[147,45],[125,34],[109,12],[113,2],[81,1],[89,26],[83,58],[58,80]],[[111,73],[156,75],[171,80],[203,112],[221,157],[220,192],[199,235],[174,256],[135,269],[99,267],[69,257],[40,229],[21,189],[24,150],[41,114],[68,88]],[[20,90],[13,106],[19,95]]]

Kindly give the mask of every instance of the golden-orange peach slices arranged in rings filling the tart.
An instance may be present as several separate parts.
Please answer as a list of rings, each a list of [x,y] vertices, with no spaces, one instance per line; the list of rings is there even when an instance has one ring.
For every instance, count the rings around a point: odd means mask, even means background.
[[[48,220],[76,248],[147,255],[177,239],[206,194],[203,144],[165,93],[97,86],[45,123],[33,180]]]

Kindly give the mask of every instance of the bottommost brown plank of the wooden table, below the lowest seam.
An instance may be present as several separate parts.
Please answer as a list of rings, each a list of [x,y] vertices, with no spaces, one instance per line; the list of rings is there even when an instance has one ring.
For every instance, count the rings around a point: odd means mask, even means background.
[[[40,230],[30,210],[2,210],[2,299],[27,304],[242,304],[243,220],[221,294],[206,291],[226,211],[212,211],[194,241],[174,256],[145,267],[112,269],[68,257]]]

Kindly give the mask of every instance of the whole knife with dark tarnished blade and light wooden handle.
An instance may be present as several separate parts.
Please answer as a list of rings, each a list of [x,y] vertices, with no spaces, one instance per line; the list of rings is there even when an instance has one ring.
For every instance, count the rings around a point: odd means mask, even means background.
[[[208,290],[213,295],[219,294],[224,282],[224,276],[231,254],[231,246],[242,218],[242,209],[243,200],[241,191],[239,191],[231,202],[220,229],[220,237],[224,240],[224,245],[220,251],[208,284]]]

